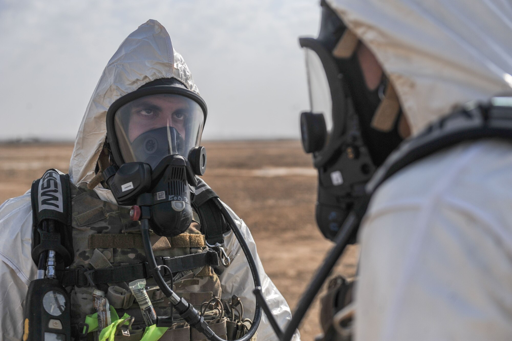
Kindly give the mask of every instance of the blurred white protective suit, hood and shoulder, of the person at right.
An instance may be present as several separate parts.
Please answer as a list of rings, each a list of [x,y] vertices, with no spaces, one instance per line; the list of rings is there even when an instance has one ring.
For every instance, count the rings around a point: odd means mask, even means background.
[[[413,135],[510,92],[505,1],[330,0],[372,50]],[[361,224],[356,340],[512,339],[512,146],[462,143],[381,185]]]

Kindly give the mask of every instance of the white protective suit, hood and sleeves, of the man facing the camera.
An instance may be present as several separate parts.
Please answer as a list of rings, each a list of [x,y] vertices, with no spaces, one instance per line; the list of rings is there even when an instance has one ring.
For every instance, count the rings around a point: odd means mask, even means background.
[[[165,28],[155,20],[148,20],[130,34],[109,61],[94,90],[86,114],[76,137],[69,174],[73,183],[89,182],[102,150],[106,135],[105,116],[109,106],[119,97],[158,78],[174,77],[192,91],[198,92],[194,80],[173,48]],[[96,193],[102,200],[115,203],[110,190],[98,185]],[[264,295],[274,315],[283,326],[291,319],[290,308],[284,297],[266,275],[256,245],[245,223],[236,215],[260,272]],[[31,258],[32,208],[30,194],[13,198],[0,208],[0,341],[19,341],[23,334],[23,306],[27,288],[36,278],[36,266]],[[244,317],[252,319],[255,297],[254,284],[245,255],[232,232],[226,233],[225,249],[231,265],[220,275],[222,294],[229,299],[236,294],[244,304]],[[266,316],[258,329],[261,341],[276,339]],[[298,334],[295,335],[298,341]]]

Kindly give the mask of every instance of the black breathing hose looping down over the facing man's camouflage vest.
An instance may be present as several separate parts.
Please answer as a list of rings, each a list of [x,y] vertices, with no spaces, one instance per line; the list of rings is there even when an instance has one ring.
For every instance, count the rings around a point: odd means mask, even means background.
[[[247,258],[247,262],[249,263],[249,268],[251,270],[252,279],[254,281],[254,287],[261,287],[260,275],[258,274],[258,269],[256,267],[254,258],[252,257],[252,253],[249,250],[249,246],[247,242],[242,237],[242,233],[238,228],[236,222],[233,220],[231,215],[229,214],[226,207],[222,204],[222,202],[218,198],[212,199],[214,200],[217,207],[221,210],[222,215],[226,219],[229,227],[234,233],[234,236],[237,238],[238,242],[242,250],[244,251],[245,257]],[[153,277],[157,282],[158,286],[162,290],[165,296],[167,296],[171,303],[174,305],[174,308],[178,311],[181,317],[185,319],[192,327],[196,328],[198,331],[202,332],[210,341],[225,341],[223,338],[215,334],[208,324],[204,321],[204,318],[201,314],[195,309],[191,304],[187,303],[182,297],[179,297],[169,286],[165,283],[165,280],[160,273],[158,266],[156,264],[155,255],[153,253],[153,248],[150,240],[150,223],[148,219],[141,219],[140,225],[142,242],[144,245],[144,251],[146,253],[147,263],[152,269]],[[240,316],[242,318],[242,316]],[[258,304],[258,300],[256,300],[255,309],[254,309],[254,318],[252,320],[252,326],[249,328],[247,333],[241,338],[234,341],[249,341],[261,321],[261,307]]]

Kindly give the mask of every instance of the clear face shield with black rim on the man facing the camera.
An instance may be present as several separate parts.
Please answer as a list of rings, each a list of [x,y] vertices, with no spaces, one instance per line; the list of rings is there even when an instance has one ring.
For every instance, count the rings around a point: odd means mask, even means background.
[[[206,104],[181,83],[129,93],[111,105],[106,117],[114,162],[144,162],[155,169],[169,155],[188,158],[201,142],[205,119]]]

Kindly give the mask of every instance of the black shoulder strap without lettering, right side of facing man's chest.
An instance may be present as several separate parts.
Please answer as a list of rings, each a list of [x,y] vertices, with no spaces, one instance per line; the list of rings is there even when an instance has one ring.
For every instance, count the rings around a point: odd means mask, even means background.
[[[211,200],[212,198],[219,198],[219,196],[202,179],[198,178],[194,203],[199,210],[201,232],[205,235],[209,245],[217,243],[224,245],[223,233],[229,230],[229,226],[217,205]]]

